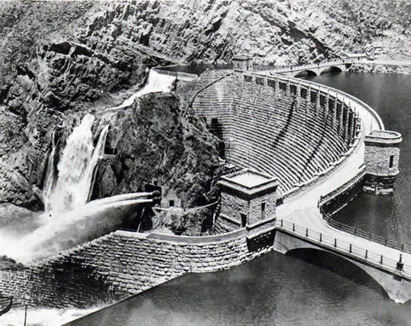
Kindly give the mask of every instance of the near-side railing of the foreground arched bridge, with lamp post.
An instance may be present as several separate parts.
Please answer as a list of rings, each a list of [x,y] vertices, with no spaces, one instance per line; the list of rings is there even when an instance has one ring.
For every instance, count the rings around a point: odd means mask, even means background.
[[[313,231],[296,223],[289,222],[286,220],[277,220],[276,227],[278,229],[283,229],[291,234],[299,236],[299,238],[306,239],[312,243],[320,244],[321,247],[325,247],[328,250],[339,252],[341,254],[346,254],[353,258],[360,259],[361,261],[372,263],[374,266],[380,266],[385,270],[390,270],[391,272],[398,271],[398,263],[401,262],[402,256],[399,253],[399,260],[394,260],[388,258],[383,254],[377,254],[376,252],[370,252],[367,249],[353,245],[349,241],[341,240],[341,238],[335,238],[328,236],[327,234],[322,234],[318,231]],[[403,274],[411,277],[411,266],[403,265]]]

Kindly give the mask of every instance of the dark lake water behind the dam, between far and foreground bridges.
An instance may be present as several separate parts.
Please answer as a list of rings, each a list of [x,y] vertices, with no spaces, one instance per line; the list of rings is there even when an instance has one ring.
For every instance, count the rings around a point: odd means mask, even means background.
[[[403,136],[394,194],[362,193],[334,219],[411,244],[411,76],[346,73],[323,75],[313,81],[362,99],[378,112],[385,129],[399,131]]]

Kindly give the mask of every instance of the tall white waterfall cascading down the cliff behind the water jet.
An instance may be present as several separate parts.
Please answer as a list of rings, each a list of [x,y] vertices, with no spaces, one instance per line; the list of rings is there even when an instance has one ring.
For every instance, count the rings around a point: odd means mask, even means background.
[[[94,115],[87,113],[81,123],[74,127],[58,162],[58,178],[55,182],[53,158],[49,158],[44,202],[46,213],[52,217],[84,205],[89,198],[94,168],[103,155],[108,133],[107,125],[94,148],[93,122]],[[55,149],[53,145],[50,156],[54,155]]]

